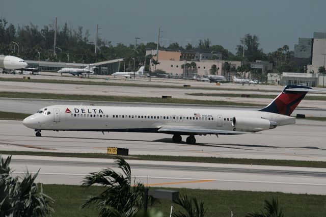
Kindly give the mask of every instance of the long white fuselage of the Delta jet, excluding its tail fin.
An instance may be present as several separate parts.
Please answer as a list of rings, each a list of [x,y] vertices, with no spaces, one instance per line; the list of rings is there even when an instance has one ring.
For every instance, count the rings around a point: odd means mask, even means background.
[[[53,105],[40,111],[23,124],[37,130],[160,132],[162,126],[180,126],[257,132],[295,123],[293,117],[274,113],[199,108]]]

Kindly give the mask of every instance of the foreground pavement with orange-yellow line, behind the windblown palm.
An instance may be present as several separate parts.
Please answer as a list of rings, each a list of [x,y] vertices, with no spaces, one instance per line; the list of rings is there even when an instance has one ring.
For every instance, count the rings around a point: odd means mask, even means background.
[[[326,195],[326,169],[127,160],[132,176],[148,186]],[[14,155],[15,175],[40,170],[37,182],[81,184],[90,172],[117,166],[113,159]]]

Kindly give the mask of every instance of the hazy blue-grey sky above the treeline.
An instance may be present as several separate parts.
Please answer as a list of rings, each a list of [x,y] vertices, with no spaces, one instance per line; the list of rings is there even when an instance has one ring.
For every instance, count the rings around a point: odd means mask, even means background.
[[[0,17],[18,25],[65,23],[76,30],[90,31],[90,41],[98,37],[113,45],[123,43],[177,42],[196,46],[209,39],[235,53],[246,34],[259,38],[260,48],[271,52],[283,45],[290,50],[298,38],[312,38],[314,32],[326,32],[324,0],[0,0]]]

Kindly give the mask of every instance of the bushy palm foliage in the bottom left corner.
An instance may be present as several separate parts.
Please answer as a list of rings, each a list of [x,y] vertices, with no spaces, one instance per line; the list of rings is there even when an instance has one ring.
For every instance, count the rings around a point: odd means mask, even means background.
[[[14,178],[10,161],[11,156],[6,160],[0,156],[0,216],[46,216],[53,211],[50,205],[53,200],[35,183],[38,172]]]

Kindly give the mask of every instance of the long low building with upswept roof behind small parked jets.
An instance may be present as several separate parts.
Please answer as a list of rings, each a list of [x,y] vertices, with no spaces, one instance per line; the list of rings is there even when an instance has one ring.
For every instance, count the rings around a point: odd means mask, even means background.
[[[123,59],[108,60],[103,62],[93,63],[92,65],[96,66],[95,73],[99,75],[110,75],[117,71],[120,68],[120,62]],[[88,64],[84,63],[64,63],[64,62],[48,62],[48,61],[35,61],[35,60],[26,60],[28,67],[38,68],[39,71],[47,72],[58,72],[62,68],[85,68]]]

